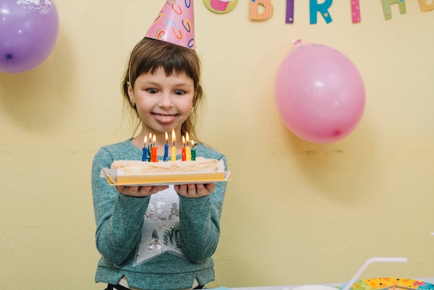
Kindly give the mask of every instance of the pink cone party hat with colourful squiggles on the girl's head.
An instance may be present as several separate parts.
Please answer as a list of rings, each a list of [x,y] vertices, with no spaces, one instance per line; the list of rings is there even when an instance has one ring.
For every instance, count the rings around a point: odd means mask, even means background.
[[[195,49],[193,0],[165,1],[145,37]]]

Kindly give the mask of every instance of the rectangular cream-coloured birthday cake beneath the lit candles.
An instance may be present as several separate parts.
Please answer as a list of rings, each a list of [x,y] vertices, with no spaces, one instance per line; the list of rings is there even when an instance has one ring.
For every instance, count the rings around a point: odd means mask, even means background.
[[[190,161],[143,162],[139,160],[114,160],[111,166],[118,174],[139,175],[152,173],[206,173],[225,171],[223,160],[196,157]]]

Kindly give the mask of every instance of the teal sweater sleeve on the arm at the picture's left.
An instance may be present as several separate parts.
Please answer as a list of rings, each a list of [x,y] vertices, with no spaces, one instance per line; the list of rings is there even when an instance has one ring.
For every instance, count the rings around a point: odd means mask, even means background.
[[[112,160],[111,154],[102,148],[92,165],[96,248],[112,264],[120,265],[134,255],[150,198],[125,196],[108,185],[100,171],[110,167]]]

